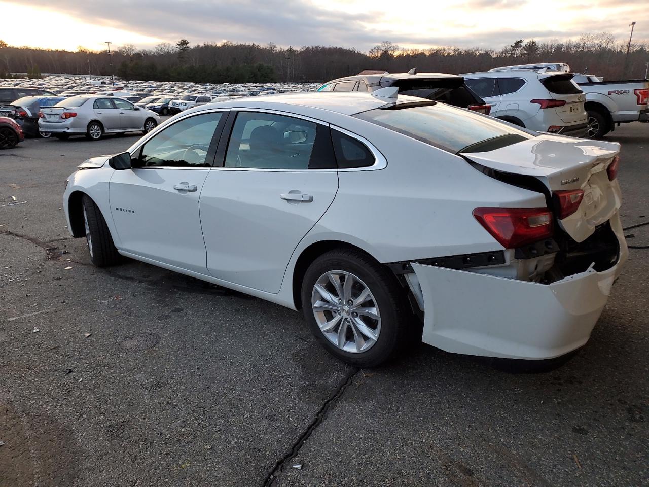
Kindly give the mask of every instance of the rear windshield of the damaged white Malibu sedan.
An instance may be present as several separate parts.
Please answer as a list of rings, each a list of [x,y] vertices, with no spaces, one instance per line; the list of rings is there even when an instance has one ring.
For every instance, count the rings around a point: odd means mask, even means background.
[[[435,103],[355,115],[452,153],[493,151],[534,135],[470,110]]]

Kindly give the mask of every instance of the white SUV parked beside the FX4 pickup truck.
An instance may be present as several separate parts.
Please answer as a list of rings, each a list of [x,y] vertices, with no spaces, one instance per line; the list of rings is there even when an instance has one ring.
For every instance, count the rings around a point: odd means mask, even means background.
[[[574,74],[548,69],[509,69],[463,75],[491,105],[491,116],[537,132],[583,137],[586,95]]]

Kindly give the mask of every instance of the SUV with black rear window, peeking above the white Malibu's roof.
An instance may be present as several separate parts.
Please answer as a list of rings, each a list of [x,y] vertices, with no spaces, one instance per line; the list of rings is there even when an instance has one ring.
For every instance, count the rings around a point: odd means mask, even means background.
[[[373,92],[388,86],[398,86],[399,94],[426,98],[469,108],[489,115],[491,105],[485,103],[464,82],[464,78],[446,73],[358,73],[324,83],[319,92]]]

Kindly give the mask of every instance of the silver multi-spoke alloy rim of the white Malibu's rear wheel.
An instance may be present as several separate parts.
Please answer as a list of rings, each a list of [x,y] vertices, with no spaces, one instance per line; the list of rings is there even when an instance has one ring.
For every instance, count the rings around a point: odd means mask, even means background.
[[[361,353],[381,332],[381,314],[369,287],[347,271],[324,273],[313,286],[313,316],[320,331],[337,348]]]

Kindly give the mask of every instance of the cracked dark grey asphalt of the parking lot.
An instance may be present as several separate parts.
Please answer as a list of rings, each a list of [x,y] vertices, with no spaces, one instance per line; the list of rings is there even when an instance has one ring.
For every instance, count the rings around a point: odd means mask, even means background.
[[[426,345],[353,369],[299,313],[140,262],[90,265],[64,181],[138,136],[0,152],[1,487],[649,484],[649,250],[630,250],[559,369]],[[606,140],[622,144],[624,225],[648,221],[649,124]],[[627,234],[649,245],[649,226]]]

